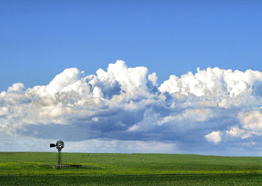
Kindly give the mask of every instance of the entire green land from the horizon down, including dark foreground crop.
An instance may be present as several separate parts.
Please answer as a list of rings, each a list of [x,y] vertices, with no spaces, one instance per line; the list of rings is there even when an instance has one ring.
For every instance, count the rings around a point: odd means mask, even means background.
[[[261,185],[261,157],[0,152],[2,185]],[[79,165],[73,167],[72,165]],[[80,167],[82,165],[82,167]],[[60,180],[59,182],[57,180]]]

